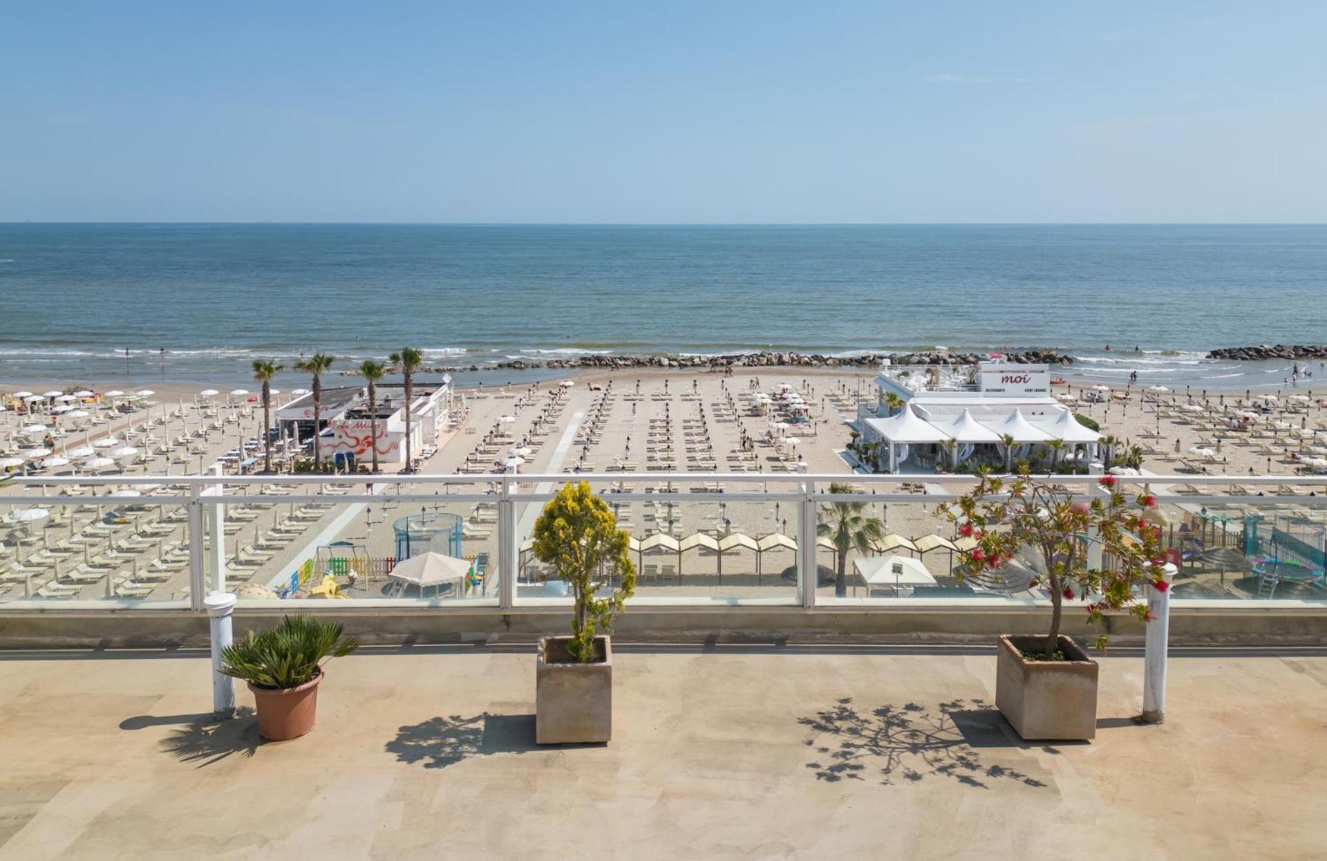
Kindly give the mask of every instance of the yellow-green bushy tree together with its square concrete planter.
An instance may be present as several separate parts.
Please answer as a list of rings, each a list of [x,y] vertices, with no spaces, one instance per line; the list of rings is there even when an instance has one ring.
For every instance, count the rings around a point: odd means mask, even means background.
[[[535,557],[572,593],[571,636],[539,640],[535,741],[608,741],[613,731],[614,617],[636,589],[629,535],[584,481],[567,482],[535,521]],[[617,586],[613,586],[613,582]]]

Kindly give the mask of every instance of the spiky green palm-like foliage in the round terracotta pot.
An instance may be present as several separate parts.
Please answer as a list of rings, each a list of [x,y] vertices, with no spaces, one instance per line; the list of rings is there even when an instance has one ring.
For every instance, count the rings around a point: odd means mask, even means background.
[[[260,688],[283,690],[311,682],[330,658],[360,647],[357,636],[342,636],[338,622],[284,617],[261,632],[249,631],[222,651],[222,672]]]

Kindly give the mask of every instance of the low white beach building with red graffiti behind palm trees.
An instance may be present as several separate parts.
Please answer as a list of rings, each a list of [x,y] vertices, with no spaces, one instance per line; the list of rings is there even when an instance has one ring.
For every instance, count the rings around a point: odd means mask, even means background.
[[[324,434],[322,456],[353,457],[358,462],[373,458],[370,446],[378,449],[378,461],[403,464],[406,460],[405,389],[401,385],[380,383],[377,387],[377,432],[373,436],[374,415],[369,409],[369,392],[364,387],[322,389],[322,415],[318,430]],[[415,383],[410,405],[410,448],[415,456],[425,445],[438,441],[447,427],[453,409],[451,380],[443,383]],[[276,421],[283,434],[296,440],[309,440],[313,434],[313,396],[303,395],[276,411]]]

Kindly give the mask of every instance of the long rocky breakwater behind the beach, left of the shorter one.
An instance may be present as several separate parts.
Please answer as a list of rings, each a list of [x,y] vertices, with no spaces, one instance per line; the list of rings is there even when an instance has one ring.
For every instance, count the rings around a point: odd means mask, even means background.
[[[425,372],[441,373],[445,371],[482,371],[491,368],[564,368],[564,369],[628,369],[628,368],[694,368],[694,369],[721,369],[729,365],[734,368],[874,368],[888,359],[896,365],[930,365],[949,363],[955,365],[971,365],[985,361],[987,356],[978,353],[959,353],[950,351],[925,352],[864,352],[853,355],[827,356],[823,353],[799,353],[784,351],[764,351],[755,353],[733,353],[727,356],[575,356],[569,359],[549,359],[547,361],[527,361],[514,359],[487,365],[462,367],[430,367],[422,368]],[[1070,364],[1072,356],[1067,356],[1050,349],[1024,349],[1020,352],[1005,353],[1005,361],[1016,364]]]

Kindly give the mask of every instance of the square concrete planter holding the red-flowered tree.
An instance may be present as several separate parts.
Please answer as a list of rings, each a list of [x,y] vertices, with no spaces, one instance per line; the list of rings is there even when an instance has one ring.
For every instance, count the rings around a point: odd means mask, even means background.
[[[1060,636],[1068,660],[1028,660],[1046,638],[1003,635],[995,664],[995,706],[1027,740],[1087,740],[1096,736],[1096,662]]]

